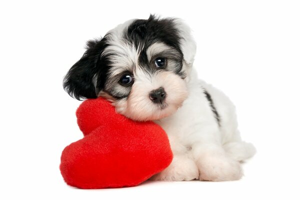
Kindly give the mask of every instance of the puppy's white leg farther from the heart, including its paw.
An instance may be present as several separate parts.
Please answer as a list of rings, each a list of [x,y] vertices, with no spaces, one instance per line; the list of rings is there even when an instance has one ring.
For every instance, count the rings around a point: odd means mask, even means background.
[[[200,180],[237,180],[242,176],[240,163],[228,156],[216,139],[202,137],[192,144],[191,151],[200,171]]]

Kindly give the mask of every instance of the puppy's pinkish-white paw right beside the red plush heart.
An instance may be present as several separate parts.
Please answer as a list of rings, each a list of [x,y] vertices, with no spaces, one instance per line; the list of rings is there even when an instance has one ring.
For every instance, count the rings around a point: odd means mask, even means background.
[[[171,164],[150,180],[181,181],[199,178],[199,170],[192,159],[186,156],[175,156]]]

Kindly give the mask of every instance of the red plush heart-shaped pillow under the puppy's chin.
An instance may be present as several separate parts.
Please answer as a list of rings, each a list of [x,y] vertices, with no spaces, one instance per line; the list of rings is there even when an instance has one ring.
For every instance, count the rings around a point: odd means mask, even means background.
[[[134,186],[166,168],[172,152],[157,124],[117,114],[103,98],[88,99],[76,111],[82,139],[66,146],[60,171],[79,188]]]

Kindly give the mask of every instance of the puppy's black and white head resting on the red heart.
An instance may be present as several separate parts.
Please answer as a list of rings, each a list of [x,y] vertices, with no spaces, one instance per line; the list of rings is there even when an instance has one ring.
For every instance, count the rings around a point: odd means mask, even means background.
[[[133,19],[87,42],[87,50],[64,77],[76,99],[104,96],[134,120],[174,113],[187,97],[195,43],[180,19]]]

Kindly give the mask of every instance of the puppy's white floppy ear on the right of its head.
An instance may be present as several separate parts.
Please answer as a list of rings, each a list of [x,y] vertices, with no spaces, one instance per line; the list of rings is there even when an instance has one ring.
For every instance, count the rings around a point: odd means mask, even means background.
[[[191,29],[180,18],[175,18],[174,22],[181,36],[180,48],[183,53],[183,59],[187,65],[191,66],[196,53],[196,42],[194,41],[194,38],[191,34]]]

